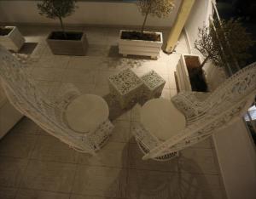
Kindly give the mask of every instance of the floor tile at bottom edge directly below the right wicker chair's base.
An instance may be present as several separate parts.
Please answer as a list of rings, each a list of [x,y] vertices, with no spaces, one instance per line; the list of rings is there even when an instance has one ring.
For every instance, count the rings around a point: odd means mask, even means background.
[[[180,199],[177,173],[130,169],[127,197],[129,199]]]

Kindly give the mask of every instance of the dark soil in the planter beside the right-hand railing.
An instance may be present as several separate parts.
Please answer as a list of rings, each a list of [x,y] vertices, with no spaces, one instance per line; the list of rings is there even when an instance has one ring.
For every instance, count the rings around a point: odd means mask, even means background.
[[[189,80],[192,91],[207,92],[207,82],[205,80],[204,72],[200,66],[200,61],[197,56],[184,56],[187,69],[189,71]]]

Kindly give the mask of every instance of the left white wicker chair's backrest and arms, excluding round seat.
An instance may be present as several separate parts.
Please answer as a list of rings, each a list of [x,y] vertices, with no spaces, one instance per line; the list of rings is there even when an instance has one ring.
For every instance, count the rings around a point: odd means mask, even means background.
[[[56,98],[49,98],[36,86],[32,77],[24,70],[24,65],[1,46],[0,65],[3,89],[9,101],[46,132],[73,149],[90,154],[95,154],[106,143],[113,129],[108,119],[100,122],[94,132],[84,134],[69,128],[65,122],[67,105],[80,95],[72,84],[62,87]]]

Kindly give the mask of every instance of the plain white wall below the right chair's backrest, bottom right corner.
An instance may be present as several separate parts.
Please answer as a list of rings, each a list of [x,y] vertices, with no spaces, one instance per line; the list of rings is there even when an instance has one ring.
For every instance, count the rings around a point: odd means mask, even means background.
[[[255,199],[255,148],[243,121],[214,134],[213,140],[228,198]]]

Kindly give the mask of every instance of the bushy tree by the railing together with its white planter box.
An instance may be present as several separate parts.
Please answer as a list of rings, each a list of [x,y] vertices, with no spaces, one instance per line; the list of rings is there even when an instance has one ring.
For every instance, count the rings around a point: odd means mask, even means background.
[[[218,67],[233,70],[234,66],[241,67],[244,60],[250,56],[247,49],[253,46],[253,39],[241,25],[241,20],[221,20],[214,26],[199,28],[198,39],[195,40],[195,49],[204,57],[194,54],[183,54],[177,65],[177,82],[179,88],[207,92],[207,79],[204,65],[207,61]],[[181,68],[182,67],[182,68]]]

